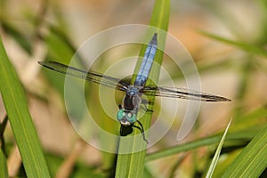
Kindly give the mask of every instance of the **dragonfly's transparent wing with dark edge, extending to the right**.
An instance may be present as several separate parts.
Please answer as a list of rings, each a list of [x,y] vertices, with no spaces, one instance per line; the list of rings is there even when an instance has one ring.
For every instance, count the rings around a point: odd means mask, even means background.
[[[181,98],[193,101],[231,101],[223,96],[216,96],[214,94],[202,93],[187,88],[176,88],[168,86],[154,86],[148,85],[142,88],[140,93],[146,95],[154,95],[170,98]]]

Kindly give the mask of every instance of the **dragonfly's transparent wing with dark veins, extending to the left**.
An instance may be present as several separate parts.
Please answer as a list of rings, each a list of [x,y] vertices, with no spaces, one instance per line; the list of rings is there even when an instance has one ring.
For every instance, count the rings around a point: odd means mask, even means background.
[[[62,74],[67,74],[72,77],[84,78],[85,80],[91,81],[93,83],[105,85],[120,91],[126,91],[128,86],[118,78],[104,76],[93,71],[87,72],[85,70],[67,66],[56,61],[38,61],[38,63],[47,69],[52,69],[54,71],[60,72]]]

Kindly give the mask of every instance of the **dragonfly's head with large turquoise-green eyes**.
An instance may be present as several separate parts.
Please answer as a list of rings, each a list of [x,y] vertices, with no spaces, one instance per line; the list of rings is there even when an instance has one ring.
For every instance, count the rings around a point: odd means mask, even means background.
[[[117,111],[117,120],[121,125],[132,125],[136,122],[137,117],[134,111],[126,111],[125,109],[119,109]]]

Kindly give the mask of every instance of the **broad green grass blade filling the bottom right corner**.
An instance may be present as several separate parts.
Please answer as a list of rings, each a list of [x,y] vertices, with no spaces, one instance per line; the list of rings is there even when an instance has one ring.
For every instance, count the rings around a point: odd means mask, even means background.
[[[259,177],[267,167],[267,125],[255,135],[223,177]]]

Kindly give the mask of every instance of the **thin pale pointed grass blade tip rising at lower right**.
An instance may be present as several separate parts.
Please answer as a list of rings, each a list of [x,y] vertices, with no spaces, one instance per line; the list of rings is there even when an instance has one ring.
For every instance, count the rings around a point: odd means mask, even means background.
[[[220,157],[220,153],[221,153],[221,150],[223,148],[223,142],[226,138],[226,134],[228,132],[228,129],[229,129],[229,126],[231,125],[231,120],[229,122],[229,124],[227,125],[226,129],[225,129],[225,132],[223,134],[223,137],[221,139],[221,142],[219,143],[219,146],[217,147],[217,150],[215,152],[215,155],[214,155],[214,158],[212,160],[212,163],[211,165],[209,166],[209,169],[207,171],[207,174],[206,174],[206,177],[212,177],[213,173],[214,173],[214,168],[215,166],[217,165],[217,162],[219,160],[219,157]]]

